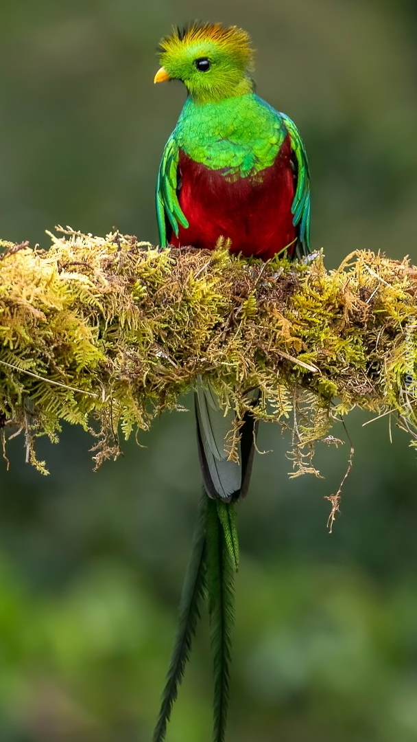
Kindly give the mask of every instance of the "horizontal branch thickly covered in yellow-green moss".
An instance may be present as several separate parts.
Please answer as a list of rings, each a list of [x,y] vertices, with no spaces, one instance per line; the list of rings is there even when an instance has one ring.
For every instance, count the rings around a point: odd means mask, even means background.
[[[62,421],[116,456],[204,376],[226,408],[293,431],[296,460],[353,407],[417,426],[417,269],[372,252],[327,272],[226,249],[155,249],[136,237],[50,234],[1,242],[0,424],[55,440]],[[252,407],[248,390],[261,398]],[[230,455],[238,436],[230,433]],[[306,459],[307,460],[307,459]]]

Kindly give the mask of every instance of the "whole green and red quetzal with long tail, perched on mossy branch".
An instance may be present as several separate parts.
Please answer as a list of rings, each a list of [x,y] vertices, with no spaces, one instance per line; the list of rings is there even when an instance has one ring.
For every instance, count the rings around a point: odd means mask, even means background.
[[[221,24],[174,29],[160,43],[154,82],[181,80],[187,100],[164,149],[156,190],[161,246],[230,252],[268,260],[310,251],[310,177],[293,121],[254,92],[253,50],[244,30]],[[249,393],[248,393],[249,394]],[[256,403],[256,392],[250,393]],[[238,562],[234,503],[247,491],[256,423],[246,413],[239,461],[229,459],[224,413],[204,379],[196,388],[197,439],[204,493],[180,603],[179,629],[154,742],[164,738],[201,598],[207,596],[214,655],[214,733],[224,740]]]

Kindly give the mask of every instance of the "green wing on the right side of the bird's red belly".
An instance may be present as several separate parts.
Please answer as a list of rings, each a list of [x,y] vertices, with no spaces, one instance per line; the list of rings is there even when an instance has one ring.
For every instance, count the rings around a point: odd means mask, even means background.
[[[307,153],[298,128],[290,116],[279,114],[284,121],[297,162],[297,186],[293,200],[293,225],[298,226],[298,251],[300,255],[310,252],[310,171]]]

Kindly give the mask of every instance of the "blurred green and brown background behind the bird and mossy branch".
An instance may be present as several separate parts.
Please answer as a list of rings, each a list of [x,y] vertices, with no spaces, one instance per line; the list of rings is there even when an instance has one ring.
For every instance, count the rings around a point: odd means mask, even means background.
[[[55,224],[156,240],[159,158],[184,100],[153,86],[159,38],[190,19],[236,23],[258,92],[298,123],[313,243],[416,255],[417,11],[410,0],[1,0],[1,237],[45,245]],[[190,399],[184,400],[190,404]],[[341,515],[325,479],[287,477],[261,429],[239,506],[230,742],[415,742],[416,454],[383,418],[347,420],[356,448]],[[335,431],[337,433],[343,431]],[[41,443],[51,475],[7,449],[0,495],[0,741],[150,739],[176,626],[200,476],[191,413],[162,416],[92,472],[91,439]],[[207,621],[167,742],[210,739]]]

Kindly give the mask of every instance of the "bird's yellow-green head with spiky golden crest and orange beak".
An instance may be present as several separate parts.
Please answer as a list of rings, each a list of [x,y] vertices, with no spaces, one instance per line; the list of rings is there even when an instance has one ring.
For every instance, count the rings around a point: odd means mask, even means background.
[[[214,103],[253,91],[253,50],[236,26],[192,24],[176,28],[159,45],[161,69],[154,82],[181,80],[197,103]]]

